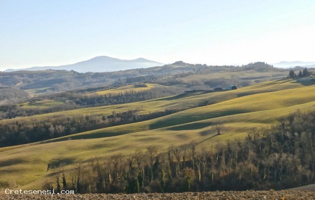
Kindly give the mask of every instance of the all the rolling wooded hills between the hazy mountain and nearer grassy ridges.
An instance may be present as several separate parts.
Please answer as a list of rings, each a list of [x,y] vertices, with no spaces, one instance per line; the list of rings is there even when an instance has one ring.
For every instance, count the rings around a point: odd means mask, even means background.
[[[0,88],[0,119],[126,104],[181,94],[187,90],[211,91],[229,85],[241,88],[281,79],[288,73],[288,69],[273,68],[263,62],[244,66],[176,62],[160,67],[102,73],[66,70],[4,72],[0,73],[3,86]],[[154,87],[139,87],[143,84]]]

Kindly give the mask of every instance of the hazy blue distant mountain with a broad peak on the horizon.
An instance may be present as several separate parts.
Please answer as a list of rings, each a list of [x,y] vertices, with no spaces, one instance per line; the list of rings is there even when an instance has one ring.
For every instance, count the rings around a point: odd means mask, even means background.
[[[61,66],[46,66],[46,67],[30,67],[25,69],[7,69],[5,72],[11,71],[36,71],[36,70],[74,70],[77,72],[108,72],[108,71],[119,71],[134,68],[147,68],[154,66],[162,66],[163,63],[158,63],[155,61],[149,61],[145,58],[137,58],[132,60],[118,59],[108,56],[97,56],[88,61],[82,61],[79,63],[71,65],[61,65]]]

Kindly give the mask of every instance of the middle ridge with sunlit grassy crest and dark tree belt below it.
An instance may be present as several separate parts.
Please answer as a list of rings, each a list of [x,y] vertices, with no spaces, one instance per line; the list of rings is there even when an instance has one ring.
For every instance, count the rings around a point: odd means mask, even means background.
[[[126,103],[122,105],[110,105],[93,108],[74,109],[61,112],[52,112],[42,115],[34,115],[29,117],[20,117],[5,119],[0,122],[3,126],[0,127],[2,134],[2,143],[16,145],[30,142],[37,142],[43,139],[52,138],[50,134],[43,134],[43,132],[49,133],[50,127],[62,126],[64,131],[55,132],[54,137],[60,137],[63,135],[71,135],[82,131],[90,131],[97,128],[117,126],[121,124],[130,124],[134,122],[144,121],[152,119],[174,112],[179,112],[186,109],[196,108],[205,105],[212,105],[220,103],[236,97],[246,96],[250,94],[257,94],[266,91],[276,91],[277,89],[302,87],[301,84],[293,83],[289,85],[288,81],[283,81],[275,86],[278,82],[272,85],[253,85],[247,88],[241,88],[234,91],[223,92],[198,92],[198,93],[185,93],[173,97],[164,97],[159,99],[148,100],[145,102]],[[154,88],[153,88],[154,89]],[[153,90],[151,89],[151,90]],[[147,90],[147,91],[151,91]],[[141,93],[140,93],[141,94]],[[104,98],[104,97],[101,97]],[[118,98],[123,98],[118,96]],[[62,102],[47,102],[41,104],[41,102],[26,104],[19,107],[20,109],[34,109],[33,107],[44,107],[51,104],[63,104]],[[24,108],[25,107],[25,108]],[[202,107],[204,108],[204,107]],[[43,108],[42,108],[43,109]],[[238,111],[238,113],[242,113]],[[89,117],[87,117],[89,116]],[[208,117],[206,115],[205,117]],[[204,118],[205,118],[204,117]],[[185,121],[189,122],[189,118],[183,116]],[[202,119],[204,119],[202,118]],[[49,120],[48,120],[49,119]],[[33,122],[39,123],[34,126]],[[167,124],[173,121],[168,121]],[[21,124],[21,125],[19,125]],[[4,126],[7,125],[7,126]],[[160,125],[154,124],[152,127],[159,127]],[[18,130],[16,132],[16,130]],[[11,132],[16,132],[15,139],[12,139]],[[21,141],[23,143],[13,143],[13,141]]]

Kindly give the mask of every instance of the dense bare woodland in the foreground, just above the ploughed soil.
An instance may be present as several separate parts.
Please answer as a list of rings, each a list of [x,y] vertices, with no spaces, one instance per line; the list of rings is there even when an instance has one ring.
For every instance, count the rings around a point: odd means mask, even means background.
[[[297,111],[270,129],[244,139],[197,150],[198,143],[149,146],[130,155],[94,157],[63,170],[62,159],[48,165],[54,183],[44,188],[76,193],[184,192],[285,189],[315,182],[315,111]]]

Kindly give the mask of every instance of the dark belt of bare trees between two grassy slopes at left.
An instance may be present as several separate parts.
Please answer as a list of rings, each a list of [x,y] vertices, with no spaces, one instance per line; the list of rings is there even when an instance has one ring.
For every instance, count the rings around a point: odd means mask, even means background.
[[[46,139],[71,135],[84,131],[141,122],[148,119],[165,116],[181,109],[171,109],[149,114],[138,115],[138,110],[115,113],[111,115],[58,115],[54,118],[38,119],[37,121],[19,120],[0,123],[0,147],[27,144]]]

